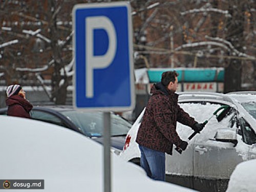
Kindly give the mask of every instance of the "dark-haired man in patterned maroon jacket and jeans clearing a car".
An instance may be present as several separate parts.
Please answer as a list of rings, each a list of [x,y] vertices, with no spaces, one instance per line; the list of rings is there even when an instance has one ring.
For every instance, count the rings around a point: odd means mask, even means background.
[[[176,132],[177,121],[197,132],[204,127],[178,105],[178,75],[176,71],[164,72],[161,82],[154,84],[136,138],[141,167],[154,180],[165,180],[165,153],[172,155],[173,144],[183,151],[187,147]]]

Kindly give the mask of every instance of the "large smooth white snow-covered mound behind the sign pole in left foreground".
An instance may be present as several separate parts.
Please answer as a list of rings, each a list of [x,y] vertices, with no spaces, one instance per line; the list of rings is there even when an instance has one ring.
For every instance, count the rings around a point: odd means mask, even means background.
[[[41,121],[0,116],[0,144],[3,179],[44,179],[45,191],[103,191],[103,147],[81,134]],[[111,158],[113,192],[193,191],[154,181],[142,168],[114,154]]]

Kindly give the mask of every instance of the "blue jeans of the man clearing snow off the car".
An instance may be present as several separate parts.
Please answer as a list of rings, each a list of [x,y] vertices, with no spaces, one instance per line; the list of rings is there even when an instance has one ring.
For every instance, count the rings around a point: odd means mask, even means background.
[[[140,166],[145,170],[148,177],[165,181],[165,153],[152,150],[139,145],[140,148]]]

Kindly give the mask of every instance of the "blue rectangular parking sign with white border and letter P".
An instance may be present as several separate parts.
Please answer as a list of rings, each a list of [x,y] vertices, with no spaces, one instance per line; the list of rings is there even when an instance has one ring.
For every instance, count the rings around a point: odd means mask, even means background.
[[[134,109],[130,4],[76,5],[73,29],[75,108],[89,111]]]

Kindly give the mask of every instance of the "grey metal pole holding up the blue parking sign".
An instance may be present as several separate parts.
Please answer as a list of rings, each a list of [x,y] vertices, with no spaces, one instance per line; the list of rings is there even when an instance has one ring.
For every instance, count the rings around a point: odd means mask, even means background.
[[[111,192],[111,154],[110,154],[110,133],[111,133],[110,112],[103,113],[103,145],[104,145],[104,192]]]

